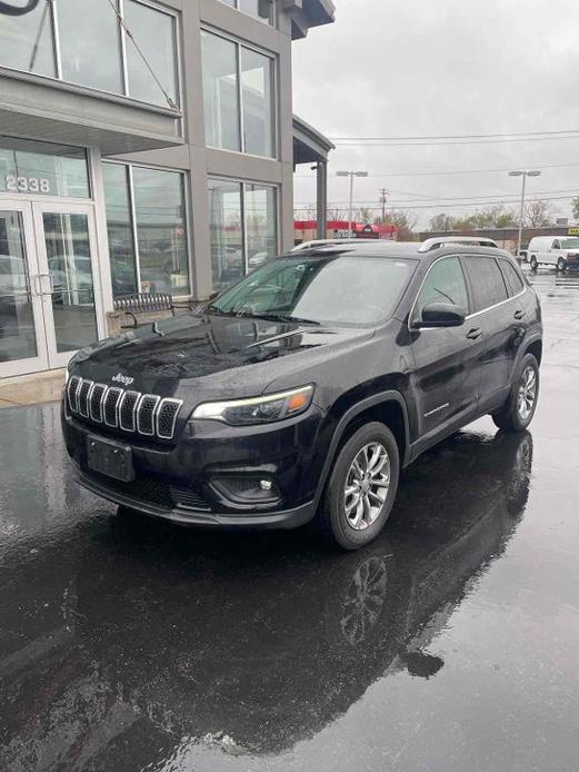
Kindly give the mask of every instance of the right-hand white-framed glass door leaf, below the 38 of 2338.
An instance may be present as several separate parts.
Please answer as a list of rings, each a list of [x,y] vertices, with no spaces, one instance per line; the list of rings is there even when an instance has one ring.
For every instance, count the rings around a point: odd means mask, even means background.
[[[90,205],[33,204],[42,309],[50,367],[64,366],[99,338],[94,215]]]

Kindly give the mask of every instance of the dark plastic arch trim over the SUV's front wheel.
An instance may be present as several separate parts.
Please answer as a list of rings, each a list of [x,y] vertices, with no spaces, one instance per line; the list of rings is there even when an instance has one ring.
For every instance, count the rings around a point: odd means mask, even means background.
[[[352,405],[338,422],[320,475],[316,496],[317,502],[321,498],[340,448],[353,432],[371,420],[378,420],[388,426],[390,432],[395,435],[398,445],[400,466],[403,467],[409,464],[410,424],[406,399],[400,392],[395,390],[375,394]]]

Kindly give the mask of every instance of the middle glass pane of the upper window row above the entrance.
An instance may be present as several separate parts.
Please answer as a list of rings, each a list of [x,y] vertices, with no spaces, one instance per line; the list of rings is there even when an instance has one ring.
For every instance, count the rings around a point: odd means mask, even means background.
[[[108,2],[58,0],[62,78],[122,92],[119,26]]]

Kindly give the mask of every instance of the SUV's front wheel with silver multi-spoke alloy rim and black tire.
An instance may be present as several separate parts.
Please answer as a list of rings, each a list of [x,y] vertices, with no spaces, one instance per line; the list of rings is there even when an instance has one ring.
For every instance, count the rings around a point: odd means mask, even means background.
[[[343,445],[323,495],[317,522],[333,547],[359,550],[390,516],[398,491],[400,456],[383,424],[366,424]]]

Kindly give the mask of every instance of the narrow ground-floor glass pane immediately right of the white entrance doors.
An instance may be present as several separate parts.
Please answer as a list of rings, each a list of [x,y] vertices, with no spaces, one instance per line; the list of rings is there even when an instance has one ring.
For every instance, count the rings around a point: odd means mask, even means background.
[[[124,164],[102,165],[112,294],[114,296],[138,291],[128,174],[129,167]]]

